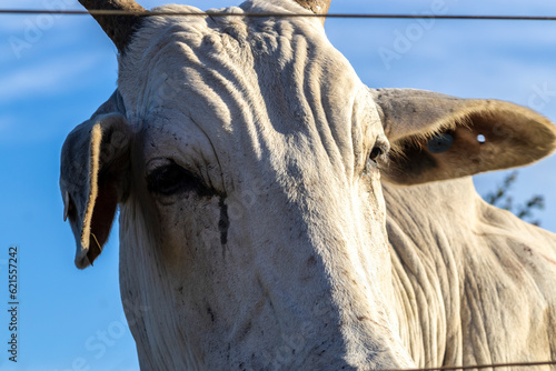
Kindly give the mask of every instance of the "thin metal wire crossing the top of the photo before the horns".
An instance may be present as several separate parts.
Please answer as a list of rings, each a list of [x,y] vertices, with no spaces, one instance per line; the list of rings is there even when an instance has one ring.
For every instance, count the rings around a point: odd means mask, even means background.
[[[447,19],[447,20],[510,20],[510,21],[555,21],[556,17],[525,16],[436,16],[436,14],[355,14],[355,13],[228,13],[191,11],[128,11],[128,10],[41,10],[41,9],[0,9],[2,14],[60,14],[60,16],[180,16],[180,17],[251,17],[251,18],[351,18],[351,19]]]

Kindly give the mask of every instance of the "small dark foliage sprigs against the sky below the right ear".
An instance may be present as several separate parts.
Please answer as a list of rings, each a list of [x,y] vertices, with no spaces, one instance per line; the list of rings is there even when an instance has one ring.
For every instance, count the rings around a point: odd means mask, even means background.
[[[509,210],[518,218],[529,221],[532,224],[540,225],[539,220],[534,220],[535,210],[544,210],[545,198],[535,194],[527,202],[522,204],[514,204],[514,198],[510,194],[510,188],[517,180],[518,172],[510,172],[504,182],[496,188],[495,191],[487,193],[484,198],[488,203],[500,209]]]

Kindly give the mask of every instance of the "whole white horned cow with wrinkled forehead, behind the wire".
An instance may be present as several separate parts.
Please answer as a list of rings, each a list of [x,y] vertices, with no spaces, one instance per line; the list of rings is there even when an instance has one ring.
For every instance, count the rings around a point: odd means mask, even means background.
[[[307,9],[328,3],[96,16],[120,51],[118,90],[69,134],[60,184],[78,268],[120,208],[141,369],[554,359],[556,238],[469,178],[549,154],[553,124],[500,101],[369,89],[319,19],[237,16]]]

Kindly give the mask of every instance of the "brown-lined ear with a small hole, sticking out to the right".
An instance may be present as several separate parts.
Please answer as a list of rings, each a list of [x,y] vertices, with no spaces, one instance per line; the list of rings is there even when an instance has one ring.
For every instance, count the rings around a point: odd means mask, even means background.
[[[556,148],[556,129],[517,104],[423,90],[373,91],[394,149],[383,176],[418,184],[532,163]]]

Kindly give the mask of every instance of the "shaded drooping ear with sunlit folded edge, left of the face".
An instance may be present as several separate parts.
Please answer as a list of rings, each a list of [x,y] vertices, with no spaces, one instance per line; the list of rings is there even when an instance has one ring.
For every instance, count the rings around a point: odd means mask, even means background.
[[[76,265],[92,264],[126,197],[131,130],[118,111],[118,92],[68,136],[61,153],[63,218],[76,237]],[[116,112],[106,113],[115,109]]]

